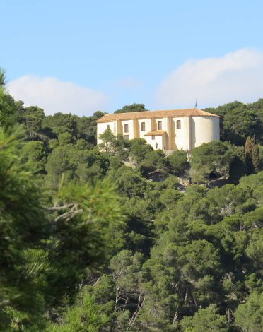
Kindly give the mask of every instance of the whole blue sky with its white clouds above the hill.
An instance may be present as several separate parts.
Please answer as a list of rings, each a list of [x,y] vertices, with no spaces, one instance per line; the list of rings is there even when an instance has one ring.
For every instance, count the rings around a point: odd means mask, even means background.
[[[0,0],[7,90],[45,114],[263,97],[261,0]]]

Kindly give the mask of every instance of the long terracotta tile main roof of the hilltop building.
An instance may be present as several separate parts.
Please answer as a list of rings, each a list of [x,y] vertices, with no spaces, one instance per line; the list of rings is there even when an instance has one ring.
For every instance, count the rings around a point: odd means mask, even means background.
[[[204,112],[201,109],[170,109],[167,111],[146,111],[146,112],[131,112],[131,113],[117,113],[105,114],[98,119],[100,122],[111,122],[113,120],[132,120],[132,119],[154,119],[162,117],[219,117],[216,114]]]

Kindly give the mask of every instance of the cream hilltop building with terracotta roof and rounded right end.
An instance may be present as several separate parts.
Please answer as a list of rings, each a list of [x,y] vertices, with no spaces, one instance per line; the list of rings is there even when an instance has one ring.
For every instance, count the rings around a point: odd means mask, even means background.
[[[154,149],[191,150],[219,140],[218,115],[201,109],[105,114],[97,121],[98,144],[106,129],[125,139],[144,138]]]

